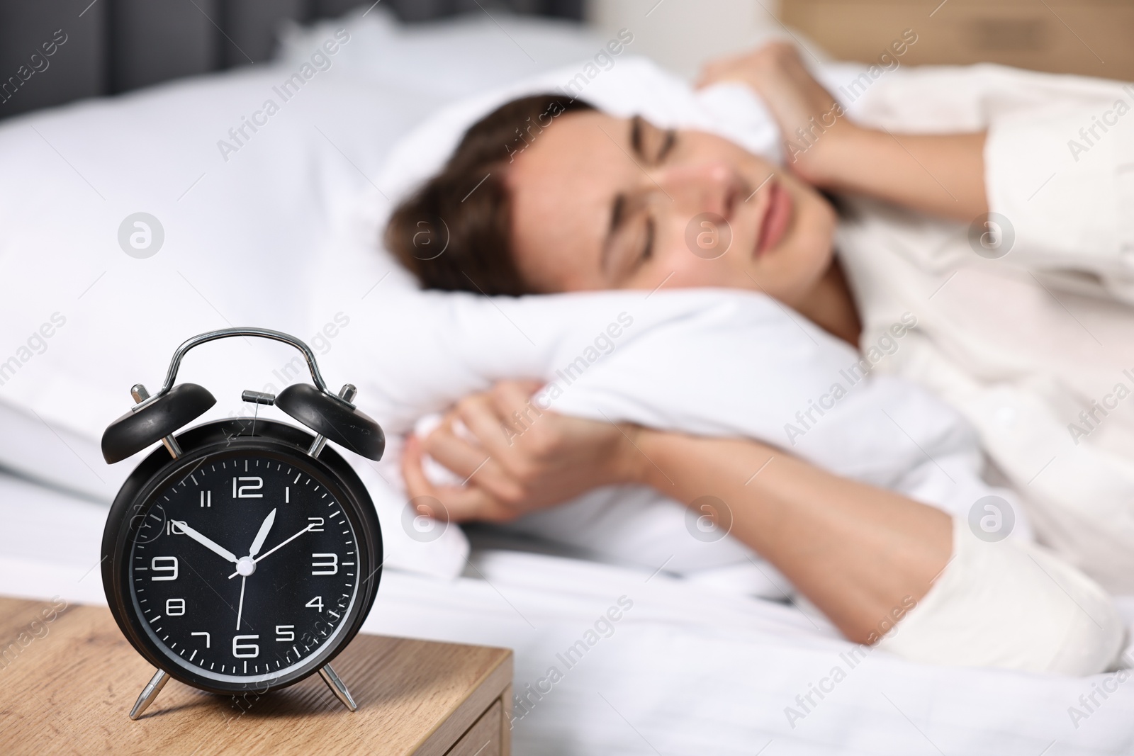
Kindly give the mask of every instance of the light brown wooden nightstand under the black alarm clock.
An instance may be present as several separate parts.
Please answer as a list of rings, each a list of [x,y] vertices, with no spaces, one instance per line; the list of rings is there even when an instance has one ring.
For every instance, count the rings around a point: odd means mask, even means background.
[[[61,602],[60,602],[61,603]],[[170,681],[127,717],[153,668],[103,606],[0,598],[6,754],[335,753],[505,756],[511,651],[359,635],[335,662],[358,711],[318,676],[246,698]]]

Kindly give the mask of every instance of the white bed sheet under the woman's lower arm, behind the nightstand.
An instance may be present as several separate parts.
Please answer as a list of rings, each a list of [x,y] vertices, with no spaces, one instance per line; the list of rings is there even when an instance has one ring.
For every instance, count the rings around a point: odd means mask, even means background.
[[[0,474],[0,594],[104,603],[104,517],[99,504]],[[850,668],[841,654],[854,646],[822,618],[646,570],[483,551],[465,575],[387,570],[363,631],[510,647],[519,694],[557,666],[562,679],[515,722],[517,756],[1134,751],[1129,680],[1076,729],[1068,707],[1105,676],[930,666],[882,651]],[[620,596],[633,608],[568,669],[558,655]],[[1123,606],[1132,619],[1134,603]],[[835,666],[846,678],[793,728],[785,708],[802,712],[795,697]]]

